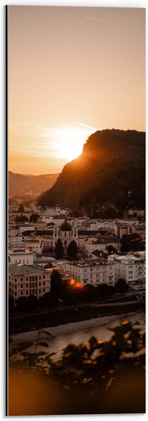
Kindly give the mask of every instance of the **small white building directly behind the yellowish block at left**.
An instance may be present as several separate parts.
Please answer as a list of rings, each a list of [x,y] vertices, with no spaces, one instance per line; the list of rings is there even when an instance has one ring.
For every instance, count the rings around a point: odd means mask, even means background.
[[[33,265],[33,252],[25,249],[13,249],[8,251],[8,260],[10,264],[21,263],[23,265]]]

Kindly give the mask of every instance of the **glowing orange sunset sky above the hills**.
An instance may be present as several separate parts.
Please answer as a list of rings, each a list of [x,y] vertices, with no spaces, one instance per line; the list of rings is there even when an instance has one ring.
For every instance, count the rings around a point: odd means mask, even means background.
[[[9,170],[60,172],[87,137],[145,131],[145,9],[9,6]]]

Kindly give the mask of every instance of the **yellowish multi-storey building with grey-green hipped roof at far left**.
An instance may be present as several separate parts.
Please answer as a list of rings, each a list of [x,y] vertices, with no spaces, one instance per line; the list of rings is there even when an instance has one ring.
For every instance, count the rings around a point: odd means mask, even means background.
[[[30,265],[9,265],[9,295],[14,301],[21,297],[42,297],[51,289],[50,273]]]

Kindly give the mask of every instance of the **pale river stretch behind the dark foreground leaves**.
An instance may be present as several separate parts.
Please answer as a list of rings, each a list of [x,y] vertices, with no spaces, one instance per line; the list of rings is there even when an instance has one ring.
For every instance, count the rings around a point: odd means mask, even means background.
[[[96,319],[90,319],[81,322],[68,323],[65,325],[46,328],[45,331],[50,332],[52,335],[51,337],[47,336],[42,329],[40,338],[44,338],[44,340],[46,339],[46,342],[49,345],[49,351],[55,352],[55,358],[58,359],[62,355],[62,350],[70,343],[86,343],[88,342],[91,336],[95,336],[98,340],[103,339],[105,341],[109,341],[113,333],[110,330],[108,330],[108,328],[112,328],[116,326],[119,323],[119,321],[124,320],[128,320],[133,323],[138,321],[140,323],[141,330],[145,330],[145,314],[139,311],[124,314],[122,316],[105,316]],[[18,333],[12,336],[13,345],[23,341],[34,341],[36,340],[37,336],[37,330]],[[32,348],[32,346],[30,347],[30,349]],[[41,347],[38,347],[38,350],[40,349]]]

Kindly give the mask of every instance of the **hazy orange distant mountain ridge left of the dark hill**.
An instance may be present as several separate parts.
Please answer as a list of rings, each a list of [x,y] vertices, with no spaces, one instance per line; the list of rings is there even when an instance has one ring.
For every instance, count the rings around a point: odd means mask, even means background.
[[[56,182],[58,174],[19,174],[9,171],[9,197],[31,194],[36,196]]]

